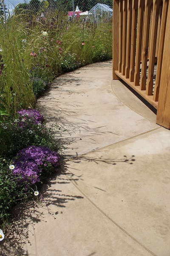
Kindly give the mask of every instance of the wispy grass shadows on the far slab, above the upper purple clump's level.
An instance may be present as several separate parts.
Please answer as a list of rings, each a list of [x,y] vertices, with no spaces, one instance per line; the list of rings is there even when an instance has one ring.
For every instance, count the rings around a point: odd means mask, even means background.
[[[54,131],[54,137],[57,140],[59,145],[64,145],[65,148],[68,148],[69,145],[73,144],[74,150],[77,148],[76,143],[79,140],[85,138],[88,139],[90,144],[96,144],[94,136],[99,136],[102,134],[112,134],[114,136],[119,136],[119,134],[114,133],[113,131],[105,131],[107,125],[99,126],[96,122],[85,119],[77,118],[77,116],[83,111],[81,103],[74,105],[74,110],[72,110],[73,105],[66,104],[65,108],[60,108],[58,111],[54,107],[48,107],[48,113],[46,107],[38,104],[37,109],[45,116],[47,125],[55,126],[58,124],[60,128]],[[73,118],[75,117],[75,121]],[[67,154],[68,155],[68,154]]]

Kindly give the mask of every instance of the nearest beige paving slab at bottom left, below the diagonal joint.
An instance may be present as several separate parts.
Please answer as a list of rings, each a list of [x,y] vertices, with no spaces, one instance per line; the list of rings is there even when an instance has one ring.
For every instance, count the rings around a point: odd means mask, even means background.
[[[15,208],[17,235],[11,234],[1,246],[2,256],[152,255],[91,204],[65,175],[54,176],[41,192],[48,199],[48,209],[41,205]]]

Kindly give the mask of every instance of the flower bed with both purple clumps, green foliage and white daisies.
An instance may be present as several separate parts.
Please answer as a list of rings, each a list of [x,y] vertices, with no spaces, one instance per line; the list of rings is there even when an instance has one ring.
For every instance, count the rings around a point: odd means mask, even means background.
[[[57,151],[61,148],[54,140],[54,128],[47,128],[43,116],[35,109],[21,109],[17,119],[7,116],[0,126],[0,225],[4,230],[17,202],[34,196],[43,200],[37,186],[58,171]],[[0,233],[0,241],[3,238]]]

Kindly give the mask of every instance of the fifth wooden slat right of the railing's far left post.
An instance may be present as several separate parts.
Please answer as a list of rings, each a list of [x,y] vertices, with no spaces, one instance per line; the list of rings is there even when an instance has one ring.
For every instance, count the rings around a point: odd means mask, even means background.
[[[135,86],[139,85],[139,81],[140,81],[143,14],[144,14],[144,0],[139,0],[137,42],[136,42],[136,62],[135,62],[135,75],[134,75]]]

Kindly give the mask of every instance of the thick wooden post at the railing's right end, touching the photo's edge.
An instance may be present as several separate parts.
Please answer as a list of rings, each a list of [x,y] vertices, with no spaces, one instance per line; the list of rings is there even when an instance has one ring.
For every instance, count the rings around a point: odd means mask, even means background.
[[[170,129],[170,5],[167,11],[156,123]]]

